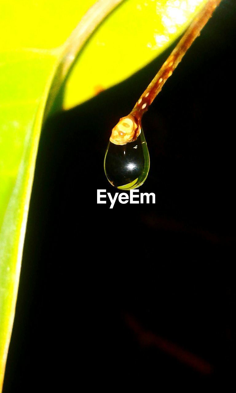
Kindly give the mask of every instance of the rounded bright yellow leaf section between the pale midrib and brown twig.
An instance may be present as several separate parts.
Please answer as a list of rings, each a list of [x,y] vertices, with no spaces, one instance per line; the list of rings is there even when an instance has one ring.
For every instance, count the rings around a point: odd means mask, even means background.
[[[74,107],[155,59],[179,37],[205,3],[206,0],[122,3],[79,56],[66,84],[64,107]],[[137,98],[134,97],[134,104]]]

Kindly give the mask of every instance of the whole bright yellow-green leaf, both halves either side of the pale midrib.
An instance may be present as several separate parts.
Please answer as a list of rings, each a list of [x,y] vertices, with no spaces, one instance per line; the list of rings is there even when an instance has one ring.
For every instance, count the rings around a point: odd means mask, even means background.
[[[96,3],[87,14],[94,0],[0,0],[0,386],[45,105],[48,113],[78,53],[65,87],[65,108],[150,62],[183,32],[205,2],[126,0],[81,50],[79,43],[97,27],[106,9],[108,13],[114,7],[108,0],[100,0],[100,8]],[[85,14],[88,17],[72,33]]]

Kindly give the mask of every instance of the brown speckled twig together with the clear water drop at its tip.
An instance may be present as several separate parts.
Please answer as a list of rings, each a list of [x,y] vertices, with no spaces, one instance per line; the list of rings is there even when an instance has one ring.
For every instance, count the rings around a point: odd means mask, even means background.
[[[144,183],[149,171],[149,153],[141,119],[166,80],[199,36],[201,29],[221,0],[208,0],[192,21],[181,40],[164,62],[157,75],[147,86],[130,114],[121,118],[112,129],[104,160],[104,170],[109,182],[117,188],[131,190]]]

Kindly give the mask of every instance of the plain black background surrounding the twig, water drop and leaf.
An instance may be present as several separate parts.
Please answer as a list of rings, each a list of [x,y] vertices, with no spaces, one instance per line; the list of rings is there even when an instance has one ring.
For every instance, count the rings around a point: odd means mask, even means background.
[[[235,388],[235,26],[224,0],[143,118],[155,205],[96,191],[118,191],[111,128],[173,47],[46,122],[4,393]]]

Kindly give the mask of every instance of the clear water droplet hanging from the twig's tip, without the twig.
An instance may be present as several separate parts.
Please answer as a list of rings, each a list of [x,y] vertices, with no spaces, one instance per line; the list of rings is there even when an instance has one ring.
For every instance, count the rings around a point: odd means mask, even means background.
[[[104,170],[109,182],[119,189],[140,187],[149,171],[149,152],[141,130],[134,142],[114,145],[109,142],[104,159]]]

